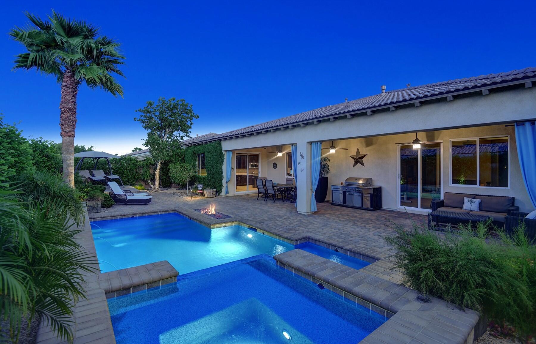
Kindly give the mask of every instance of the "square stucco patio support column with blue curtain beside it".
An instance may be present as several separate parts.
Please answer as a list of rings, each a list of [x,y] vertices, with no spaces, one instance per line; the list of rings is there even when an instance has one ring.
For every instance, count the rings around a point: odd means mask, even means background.
[[[297,211],[301,214],[312,214],[311,211],[311,145],[308,142],[297,142]],[[303,158],[302,158],[303,156]]]

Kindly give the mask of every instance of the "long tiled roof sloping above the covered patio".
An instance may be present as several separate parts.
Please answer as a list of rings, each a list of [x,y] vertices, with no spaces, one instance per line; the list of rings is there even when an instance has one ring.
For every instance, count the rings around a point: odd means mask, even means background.
[[[297,113],[292,116],[267,121],[264,123],[248,126],[222,134],[209,133],[192,137],[189,140],[185,140],[184,144],[188,146],[199,142],[210,141],[208,139],[218,140],[229,136],[244,135],[281,126],[295,125],[311,120],[319,120],[326,117],[336,116],[338,114],[374,110],[376,108],[385,107],[389,105],[397,105],[398,103],[426,100],[427,98],[434,96],[446,96],[460,91],[471,91],[472,89],[500,85],[502,83],[515,81],[522,82],[522,80],[531,78],[536,78],[536,67],[527,67],[510,72],[486,74],[480,75],[479,77],[455,79],[449,81],[429,83],[427,85],[412,86],[403,89],[385,91],[385,93],[380,93],[364,98],[359,98],[353,101],[325,106],[324,108]]]

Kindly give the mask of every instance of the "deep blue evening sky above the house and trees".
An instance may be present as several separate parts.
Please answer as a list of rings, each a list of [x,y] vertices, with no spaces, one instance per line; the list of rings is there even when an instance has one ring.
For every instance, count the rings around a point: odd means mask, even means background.
[[[85,86],[76,143],[142,147],[136,109],[160,96],[199,114],[192,135],[289,116],[387,89],[536,65],[531,2],[6,2],[0,21],[0,112],[24,135],[61,141],[59,85],[12,71],[8,32],[54,9],[122,43],[124,98]],[[95,3],[97,4],[97,3]],[[143,148],[143,147],[142,147]]]

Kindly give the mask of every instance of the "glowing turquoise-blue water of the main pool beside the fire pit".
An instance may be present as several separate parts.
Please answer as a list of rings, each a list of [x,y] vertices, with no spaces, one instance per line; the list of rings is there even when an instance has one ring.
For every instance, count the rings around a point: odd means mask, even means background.
[[[96,221],[91,228],[101,272],[168,261],[183,274],[294,249],[241,226],[211,230],[177,213]]]

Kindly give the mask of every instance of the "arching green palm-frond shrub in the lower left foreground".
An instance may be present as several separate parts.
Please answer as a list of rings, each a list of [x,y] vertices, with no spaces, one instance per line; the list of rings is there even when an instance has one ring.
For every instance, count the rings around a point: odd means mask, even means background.
[[[72,305],[85,297],[84,274],[96,266],[69,222],[83,215],[79,195],[59,175],[14,180],[0,190],[0,303],[9,323],[2,333],[16,341],[25,319],[41,317],[72,340]]]

